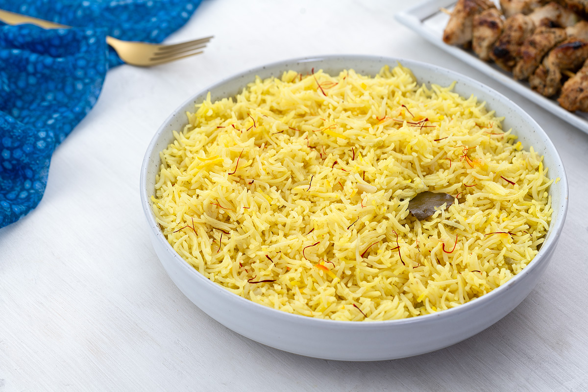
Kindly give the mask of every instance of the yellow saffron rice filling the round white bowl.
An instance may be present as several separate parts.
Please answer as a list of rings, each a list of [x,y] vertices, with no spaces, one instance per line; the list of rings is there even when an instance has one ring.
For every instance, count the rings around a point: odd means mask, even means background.
[[[449,309],[524,269],[549,227],[543,157],[474,96],[402,66],[256,78],[187,116],[161,152],[156,219],[198,272],[274,309]],[[425,190],[455,202],[419,221],[407,206]]]

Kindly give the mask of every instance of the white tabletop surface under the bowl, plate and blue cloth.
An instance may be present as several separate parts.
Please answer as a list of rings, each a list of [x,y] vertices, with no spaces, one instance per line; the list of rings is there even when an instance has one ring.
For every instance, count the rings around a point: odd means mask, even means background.
[[[203,55],[109,71],[56,150],[41,204],[0,229],[0,391],[588,390],[588,135],[400,25],[410,3],[204,0],[168,39],[215,35]],[[519,307],[462,343],[372,363],[275,350],[199,310],[153,251],[139,169],[169,113],[235,73],[332,53],[471,76],[527,110],[562,155],[570,204],[552,262]]]

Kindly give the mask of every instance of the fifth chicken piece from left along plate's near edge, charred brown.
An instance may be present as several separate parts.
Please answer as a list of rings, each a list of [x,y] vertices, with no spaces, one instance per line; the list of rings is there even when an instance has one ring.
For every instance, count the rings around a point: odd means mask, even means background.
[[[553,48],[529,78],[531,88],[544,95],[556,95],[562,87],[562,72],[576,71],[588,58],[588,41],[569,38]]]

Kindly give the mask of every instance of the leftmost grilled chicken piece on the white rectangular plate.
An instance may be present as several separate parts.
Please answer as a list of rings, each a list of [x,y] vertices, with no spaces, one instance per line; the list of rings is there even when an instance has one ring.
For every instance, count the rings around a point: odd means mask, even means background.
[[[449,45],[465,45],[472,41],[474,16],[489,8],[496,8],[490,0],[457,0],[443,31],[443,41]]]

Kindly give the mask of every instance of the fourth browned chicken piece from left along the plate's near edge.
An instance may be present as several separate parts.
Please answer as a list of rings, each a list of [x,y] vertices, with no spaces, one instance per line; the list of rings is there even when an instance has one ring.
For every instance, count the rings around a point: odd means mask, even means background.
[[[525,80],[533,75],[541,64],[543,56],[558,43],[567,38],[565,29],[540,27],[527,38],[519,50],[519,60],[513,68],[513,77]]]

